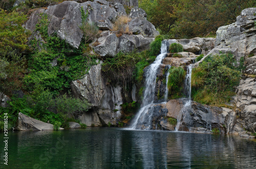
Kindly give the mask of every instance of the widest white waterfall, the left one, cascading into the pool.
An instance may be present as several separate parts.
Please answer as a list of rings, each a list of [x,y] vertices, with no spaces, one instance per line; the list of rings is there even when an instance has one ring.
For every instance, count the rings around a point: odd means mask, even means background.
[[[131,129],[150,129],[151,128],[151,119],[153,111],[149,111],[154,102],[155,89],[156,89],[156,77],[157,70],[162,63],[162,60],[165,58],[167,53],[166,42],[163,41],[161,45],[161,54],[159,54],[156,60],[148,66],[145,70],[145,90],[143,94],[143,100],[140,110],[137,112],[135,119],[131,124]]]

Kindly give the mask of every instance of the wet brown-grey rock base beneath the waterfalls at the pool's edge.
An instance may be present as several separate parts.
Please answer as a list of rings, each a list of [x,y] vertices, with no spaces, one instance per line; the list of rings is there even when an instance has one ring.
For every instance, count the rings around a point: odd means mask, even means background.
[[[174,99],[154,105],[150,109],[150,111],[154,110],[152,129],[174,131],[178,128],[179,131],[211,133],[212,129],[217,128],[221,133],[232,133],[236,116],[231,109],[210,107],[193,101],[188,106],[187,101],[187,99]],[[177,119],[180,124],[171,124],[168,122],[169,118]]]

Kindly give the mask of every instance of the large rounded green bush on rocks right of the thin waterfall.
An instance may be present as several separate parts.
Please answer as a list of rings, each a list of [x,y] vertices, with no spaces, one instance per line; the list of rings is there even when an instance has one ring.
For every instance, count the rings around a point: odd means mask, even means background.
[[[228,102],[241,78],[240,67],[234,64],[236,60],[230,53],[206,57],[191,75],[194,100],[215,106]]]

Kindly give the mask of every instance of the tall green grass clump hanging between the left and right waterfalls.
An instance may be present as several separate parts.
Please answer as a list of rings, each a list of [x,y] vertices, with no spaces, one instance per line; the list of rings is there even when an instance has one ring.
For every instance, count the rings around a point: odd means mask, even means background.
[[[182,67],[170,67],[168,71],[168,95],[172,95],[172,98],[180,97],[186,72]]]

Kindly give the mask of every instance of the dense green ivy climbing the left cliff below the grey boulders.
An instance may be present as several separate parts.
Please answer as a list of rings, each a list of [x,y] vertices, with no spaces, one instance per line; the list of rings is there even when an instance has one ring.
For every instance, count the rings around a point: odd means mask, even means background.
[[[72,80],[86,74],[91,66],[96,64],[96,58],[83,53],[87,48],[83,43],[79,49],[73,49],[56,35],[48,36],[48,24],[47,15],[42,15],[36,24],[36,30],[45,42],[31,41],[34,50],[28,56],[29,74],[24,77],[24,82],[27,90],[32,90],[34,85],[40,84],[58,94],[63,87],[69,88]],[[54,60],[57,62],[56,66],[51,64]]]

